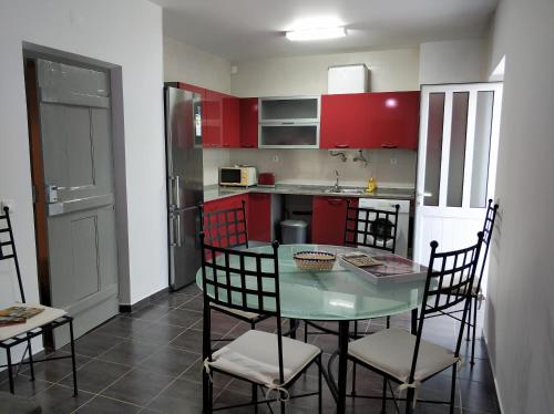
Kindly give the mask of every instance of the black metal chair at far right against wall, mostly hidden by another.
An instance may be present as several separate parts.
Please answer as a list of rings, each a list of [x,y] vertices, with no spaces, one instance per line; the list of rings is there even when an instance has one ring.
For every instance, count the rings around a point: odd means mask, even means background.
[[[483,294],[481,292],[481,282],[483,280],[483,275],[485,271],[486,259],[489,257],[489,248],[491,247],[492,232],[494,229],[494,220],[496,219],[496,213],[499,210],[497,204],[492,204],[493,200],[489,199],[485,213],[485,219],[483,224],[483,245],[484,251],[481,255],[480,266],[479,266],[479,277],[475,277],[473,284],[471,286],[471,307],[469,309],[469,318],[468,323],[465,324],[468,328],[466,331],[466,340],[470,341],[471,335],[471,361],[470,363],[473,365],[475,363],[475,337],[476,337],[476,325],[478,325],[478,308],[481,301],[483,300]],[[462,310],[454,310],[451,312],[442,312],[437,314],[437,317],[448,315],[455,320],[460,320],[455,314],[462,312]]]

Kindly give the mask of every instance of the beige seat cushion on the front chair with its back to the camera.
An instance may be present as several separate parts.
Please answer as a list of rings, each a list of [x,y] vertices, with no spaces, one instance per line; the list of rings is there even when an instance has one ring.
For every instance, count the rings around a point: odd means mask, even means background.
[[[214,352],[209,366],[266,386],[286,385],[320,353],[317,346],[283,337],[285,381],[279,384],[277,335],[250,330]]]

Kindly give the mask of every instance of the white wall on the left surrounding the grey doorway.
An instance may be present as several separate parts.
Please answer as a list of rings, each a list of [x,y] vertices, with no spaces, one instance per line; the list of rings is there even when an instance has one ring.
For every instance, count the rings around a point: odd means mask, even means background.
[[[122,303],[167,286],[162,10],[143,0],[2,1],[0,13],[0,199],[13,227],[29,301],[38,301],[22,42],[122,66],[123,157],[130,280]],[[116,182],[117,182],[116,177]],[[119,208],[124,206],[119,206]],[[0,267],[0,307],[17,299]]]

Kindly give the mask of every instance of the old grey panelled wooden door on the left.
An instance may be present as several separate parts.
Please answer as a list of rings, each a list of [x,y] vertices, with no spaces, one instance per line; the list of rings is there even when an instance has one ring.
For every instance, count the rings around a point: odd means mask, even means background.
[[[37,77],[50,298],[75,318],[79,337],[119,307],[110,79],[45,60]],[[68,339],[60,332],[55,346]]]

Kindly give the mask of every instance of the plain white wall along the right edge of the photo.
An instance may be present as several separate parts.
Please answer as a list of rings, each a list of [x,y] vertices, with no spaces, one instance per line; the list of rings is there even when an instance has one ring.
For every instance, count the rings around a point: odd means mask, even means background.
[[[492,71],[505,54],[485,330],[503,413],[552,413],[554,394],[554,2],[503,0]]]

